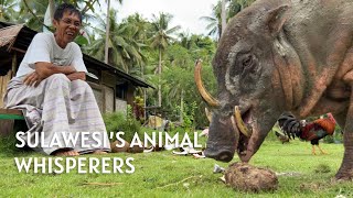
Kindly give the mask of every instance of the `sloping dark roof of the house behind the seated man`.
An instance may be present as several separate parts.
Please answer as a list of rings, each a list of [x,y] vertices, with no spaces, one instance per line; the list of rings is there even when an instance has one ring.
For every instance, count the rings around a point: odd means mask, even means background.
[[[4,46],[7,44],[10,44],[9,47],[15,47],[19,50],[26,51],[28,46],[31,44],[32,38],[34,37],[34,35],[36,33],[38,33],[36,31],[33,31],[23,24],[12,24],[12,23],[7,23],[7,22],[0,21],[0,47]],[[146,82],[145,80],[142,80],[138,77],[131,76],[131,75],[125,73],[124,70],[121,70],[117,67],[114,67],[111,65],[105,64],[105,63],[103,63],[92,56],[84,54],[83,58],[84,58],[85,64],[87,64],[87,65],[95,64],[104,70],[109,70],[110,73],[115,74],[118,77],[122,77],[125,79],[128,79],[135,86],[146,87],[146,88],[150,87],[150,88],[154,89],[153,86]]]

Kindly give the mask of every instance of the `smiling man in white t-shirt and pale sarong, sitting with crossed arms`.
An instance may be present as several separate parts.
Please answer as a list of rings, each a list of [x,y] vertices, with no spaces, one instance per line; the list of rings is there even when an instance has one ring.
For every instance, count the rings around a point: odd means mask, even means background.
[[[34,36],[8,85],[6,107],[24,111],[30,129],[21,139],[28,144],[39,139],[35,151],[65,156],[106,153],[110,151],[106,128],[85,81],[87,69],[81,48],[73,42],[82,26],[81,12],[63,3],[54,13],[53,24],[55,33]],[[88,135],[77,135],[82,132]],[[67,143],[68,135],[78,139]]]

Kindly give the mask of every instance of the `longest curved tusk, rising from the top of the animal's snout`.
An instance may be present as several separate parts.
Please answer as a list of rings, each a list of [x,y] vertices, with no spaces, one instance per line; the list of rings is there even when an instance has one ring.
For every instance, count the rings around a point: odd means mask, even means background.
[[[205,89],[202,82],[201,78],[201,62],[197,61],[196,66],[195,66],[195,73],[194,73],[194,78],[195,78],[195,84],[197,87],[197,90],[201,95],[201,97],[207,102],[208,106],[211,107],[220,107],[220,102],[214,99],[208,91]]]

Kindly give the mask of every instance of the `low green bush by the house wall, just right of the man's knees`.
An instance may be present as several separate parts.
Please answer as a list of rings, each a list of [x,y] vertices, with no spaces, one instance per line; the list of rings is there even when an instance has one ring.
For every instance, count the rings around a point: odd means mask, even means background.
[[[125,132],[124,139],[128,142],[131,142],[135,133],[142,136],[141,124],[135,119],[130,106],[128,106],[127,112],[127,114],[124,114],[122,112],[111,112],[103,116],[108,136],[110,132],[116,133],[119,131]],[[115,136],[111,141],[115,141]]]

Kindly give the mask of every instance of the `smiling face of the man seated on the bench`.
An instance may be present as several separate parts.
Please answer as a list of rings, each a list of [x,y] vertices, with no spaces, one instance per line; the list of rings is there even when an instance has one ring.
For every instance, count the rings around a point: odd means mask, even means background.
[[[54,20],[54,26],[56,28],[55,38],[58,45],[63,47],[74,41],[79,32],[81,25],[82,23],[78,15],[69,11],[65,11],[61,20]]]

